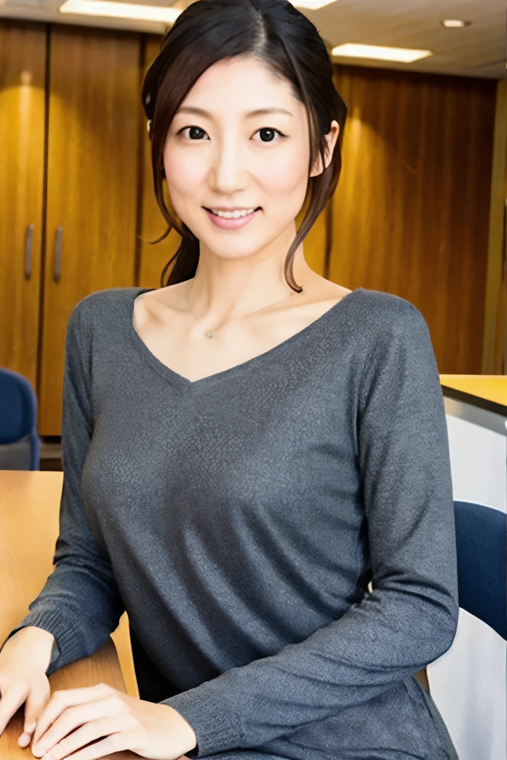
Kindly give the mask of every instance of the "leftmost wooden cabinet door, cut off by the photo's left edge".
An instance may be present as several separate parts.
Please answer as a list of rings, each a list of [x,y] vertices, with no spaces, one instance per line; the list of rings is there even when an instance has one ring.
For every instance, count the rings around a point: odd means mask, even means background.
[[[21,372],[34,388],[43,223],[45,69],[45,28],[2,21],[0,366]]]

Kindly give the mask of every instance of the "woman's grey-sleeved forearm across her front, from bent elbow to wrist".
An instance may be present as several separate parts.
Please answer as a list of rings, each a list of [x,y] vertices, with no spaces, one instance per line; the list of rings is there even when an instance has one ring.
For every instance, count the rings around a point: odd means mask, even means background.
[[[166,704],[195,730],[199,756],[271,739],[369,701],[439,657],[455,602],[378,591],[273,657],[234,668]]]

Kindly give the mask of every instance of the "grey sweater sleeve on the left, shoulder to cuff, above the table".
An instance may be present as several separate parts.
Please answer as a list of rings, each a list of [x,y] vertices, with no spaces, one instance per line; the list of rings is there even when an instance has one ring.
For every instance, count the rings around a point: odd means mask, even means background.
[[[93,537],[81,497],[81,473],[93,432],[90,346],[89,324],[78,305],[65,344],[64,480],[55,569],[19,626],[35,625],[55,636],[59,651],[49,673],[97,651],[124,610],[109,557]]]

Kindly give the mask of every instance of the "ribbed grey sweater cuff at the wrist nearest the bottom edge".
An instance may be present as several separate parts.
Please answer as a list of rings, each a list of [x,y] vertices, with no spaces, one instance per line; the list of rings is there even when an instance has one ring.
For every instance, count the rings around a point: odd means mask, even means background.
[[[217,679],[164,699],[163,704],[176,710],[195,733],[197,748],[187,752],[188,757],[201,758],[240,746],[239,720],[224,704]]]

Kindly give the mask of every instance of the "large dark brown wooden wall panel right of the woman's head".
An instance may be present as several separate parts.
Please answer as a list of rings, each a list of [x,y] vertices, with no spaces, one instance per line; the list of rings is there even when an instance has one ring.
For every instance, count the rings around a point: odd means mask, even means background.
[[[440,372],[479,373],[496,83],[340,67],[337,89],[330,278],[414,303]]]

